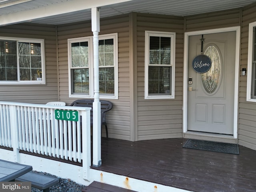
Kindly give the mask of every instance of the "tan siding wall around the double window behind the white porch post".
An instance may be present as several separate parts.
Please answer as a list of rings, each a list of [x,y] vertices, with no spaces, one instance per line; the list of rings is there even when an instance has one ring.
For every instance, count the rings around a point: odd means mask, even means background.
[[[108,136],[130,140],[130,47],[129,16],[115,16],[100,20],[100,34],[118,33],[118,100],[110,100],[113,108],[107,113]],[[67,104],[81,98],[68,96],[68,38],[92,36],[91,22],[58,26],[58,56],[60,69],[60,100]],[[85,97],[86,98],[86,97]],[[103,130],[103,136],[105,129]]]

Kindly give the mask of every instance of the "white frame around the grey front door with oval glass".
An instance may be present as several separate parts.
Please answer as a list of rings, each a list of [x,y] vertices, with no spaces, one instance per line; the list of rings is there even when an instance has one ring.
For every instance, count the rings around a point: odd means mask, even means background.
[[[232,138],[238,136],[238,83],[239,83],[239,63],[240,63],[240,26],[217,28],[211,30],[200,30],[184,33],[184,70],[183,70],[183,135],[188,133],[188,40],[189,36],[200,34],[212,34],[220,32],[236,31],[236,57],[235,57],[235,82],[234,82],[234,133]],[[196,134],[191,133],[189,134]],[[221,137],[221,134],[212,134],[214,137]],[[211,136],[211,134],[207,134]]]

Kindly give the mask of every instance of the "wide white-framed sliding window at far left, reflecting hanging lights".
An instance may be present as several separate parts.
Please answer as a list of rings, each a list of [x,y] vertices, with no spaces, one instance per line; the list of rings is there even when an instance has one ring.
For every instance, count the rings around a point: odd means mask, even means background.
[[[44,84],[44,40],[0,37],[0,84]]]

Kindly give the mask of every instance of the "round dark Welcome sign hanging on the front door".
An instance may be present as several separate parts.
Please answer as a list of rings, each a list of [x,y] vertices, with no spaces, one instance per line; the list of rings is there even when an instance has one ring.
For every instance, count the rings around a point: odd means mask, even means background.
[[[192,68],[198,73],[205,73],[212,66],[212,61],[207,55],[196,56],[192,61]]]

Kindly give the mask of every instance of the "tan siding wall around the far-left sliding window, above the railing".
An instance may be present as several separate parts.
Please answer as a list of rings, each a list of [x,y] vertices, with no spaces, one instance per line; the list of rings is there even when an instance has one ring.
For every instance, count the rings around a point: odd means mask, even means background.
[[[45,85],[0,85],[0,100],[45,104],[58,100],[55,26],[14,24],[0,27],[0,36],[44,39],[46,61]]]

